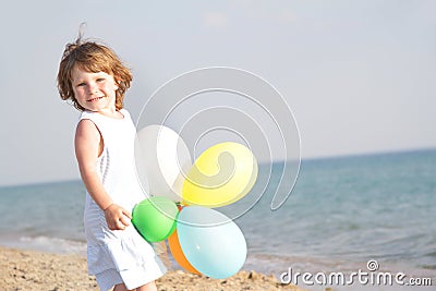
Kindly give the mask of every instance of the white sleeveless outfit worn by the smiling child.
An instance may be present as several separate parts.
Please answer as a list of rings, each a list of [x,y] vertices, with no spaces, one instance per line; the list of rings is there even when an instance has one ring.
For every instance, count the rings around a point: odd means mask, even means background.
[[[146,198],[136,177],[134,165],[134,140],[136,130],[125,109],[123,119],[84,111],[81,120],[93,121],[104,140],[104,150],[97,160],[97,173],[116,204],[129,211]],[[146,242],[131,225],[125,230],[111,231],[105,213],[86,193],[84,211],[89,275],[95,275],[101,290],[124,283],[135,289],[154,281],[166,268]]]

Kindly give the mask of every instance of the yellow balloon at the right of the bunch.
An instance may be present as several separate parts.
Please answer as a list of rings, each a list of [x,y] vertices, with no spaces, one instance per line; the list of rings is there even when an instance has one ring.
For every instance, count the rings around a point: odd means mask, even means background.
[[[257,161],[244,145],[227,142],[207,148],[183,183],[182,203],[220,207],[241,199],[257,178]]]

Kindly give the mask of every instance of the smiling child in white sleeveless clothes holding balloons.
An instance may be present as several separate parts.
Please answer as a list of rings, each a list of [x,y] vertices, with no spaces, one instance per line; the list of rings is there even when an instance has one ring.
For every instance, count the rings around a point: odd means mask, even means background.
[[[145,198],[134,166],[136,130],[123,109],[131,81],[110,48],[81,37],[66,45],[58,89],[82,111],[74,143],[87,190],[87,263],[101,290],[157,290],[155,280],[166,271],[130,222],[133,206]]]

